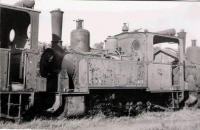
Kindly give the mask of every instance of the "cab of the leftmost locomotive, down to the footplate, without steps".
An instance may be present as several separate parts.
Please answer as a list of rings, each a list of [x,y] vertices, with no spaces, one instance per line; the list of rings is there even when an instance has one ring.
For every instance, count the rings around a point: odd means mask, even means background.
[[[30,89],[34,86],[29,83],[34,84],[36,79],[34,71],[36,71],[39,12],[2,4],[0,8],[0,48],[3,58],[1,64],[5,67],[1,68],[5,71],[2,73],[2,77],[5,78],[1,82],[1,89],[17,91]]]

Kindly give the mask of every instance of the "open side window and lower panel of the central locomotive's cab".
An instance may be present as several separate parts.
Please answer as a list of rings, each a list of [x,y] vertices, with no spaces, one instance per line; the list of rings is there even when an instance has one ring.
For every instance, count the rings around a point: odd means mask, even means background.
[[[180,87],[181,50],[179,39],[173,36],[153,36],[153,52],[149,56],[149,88],[152,91],[182,90]],[[174,49],[173,49],[174,48]],[[175,50],[176,49],[176,50]],[[155,82],[157,81],[157,82]],[[183,86],[182,86],[183,87]]]

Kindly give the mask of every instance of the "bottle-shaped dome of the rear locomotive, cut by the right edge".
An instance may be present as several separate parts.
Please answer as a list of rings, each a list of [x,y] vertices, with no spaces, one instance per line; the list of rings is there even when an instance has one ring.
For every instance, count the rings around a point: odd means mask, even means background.
[[[200,47],[196,46],[196,40],[192,40],[192,46],[186,49],[186,59],[192,63],[200,63]]]

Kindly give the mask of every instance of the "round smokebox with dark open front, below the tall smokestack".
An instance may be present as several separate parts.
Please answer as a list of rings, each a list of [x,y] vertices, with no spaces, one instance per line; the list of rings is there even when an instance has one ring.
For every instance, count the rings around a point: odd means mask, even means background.
[[[42,77],[56,76],[61,69],[66,69],[72,76],[75,72],[76,61],[73,54],[47,48],[40,59],[40,74]]]

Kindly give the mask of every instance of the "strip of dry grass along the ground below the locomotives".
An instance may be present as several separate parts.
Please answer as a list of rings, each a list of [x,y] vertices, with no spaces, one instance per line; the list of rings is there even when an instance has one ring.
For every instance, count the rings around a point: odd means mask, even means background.
[[[0,129],[56,129],[56,130],[200,130],[200,109],[176,112],[148,112],[136,117],[105,117],[42,120],[22,124],[0,121]]]

